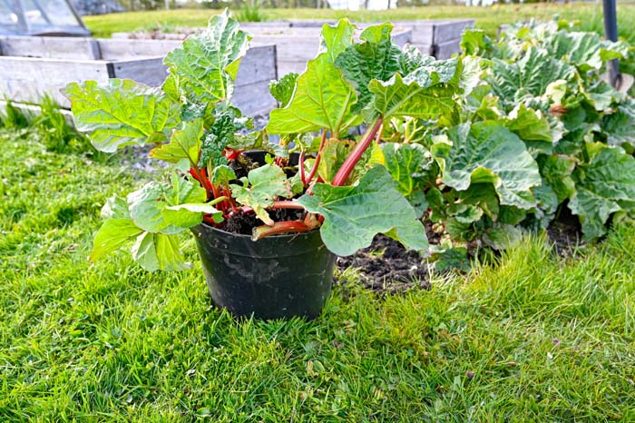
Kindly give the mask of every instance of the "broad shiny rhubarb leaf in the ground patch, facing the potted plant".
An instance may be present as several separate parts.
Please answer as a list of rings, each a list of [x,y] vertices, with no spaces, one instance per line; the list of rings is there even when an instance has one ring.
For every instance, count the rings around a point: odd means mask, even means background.
[[[492,183],[501,204],[522,209],[535,206],[531,189],[541,184],[538,165],[502,123],[464,123],[451,128],[447,136],[451,145],[434,146],[442,182],[458,191],[473,183]]]

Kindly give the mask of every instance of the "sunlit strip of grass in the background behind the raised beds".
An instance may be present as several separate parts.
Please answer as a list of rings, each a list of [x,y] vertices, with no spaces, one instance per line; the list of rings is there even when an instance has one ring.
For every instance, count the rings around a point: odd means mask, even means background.
[[[131,12],[112,15],[84,16],[83,21],[95,36],[110,36],[113,32],[133,31],[151,27],[204,26],[210,15],[219,13],[209,9],[181,9],[172,11]],[[466,7],[458,5],[404,7],[390,11],[349,12],[331,9],[263,9],[267,20],[275,19],[336,19],[349,17],[356,21],[381,21],[402,19],[474,18],[476,26],[495,35],[498,26],[512,22],[536,19],[552,19],[554,15],[570,20],[580,20],[585,31],[603,33],[601,3],[552,3],[532,5],[494,5],[493,7]],[[635,4],[618,5],[620,36],[635,44]]]

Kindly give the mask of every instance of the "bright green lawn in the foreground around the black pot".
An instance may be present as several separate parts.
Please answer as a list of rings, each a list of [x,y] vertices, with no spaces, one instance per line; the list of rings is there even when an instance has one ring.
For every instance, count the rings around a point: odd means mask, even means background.
[[[238,322],[198,263],[90,265],[101,204],[150,175],[44,139],[0,132],[0,421],[635,420],[635,225],[384,299],[347,271],[318,320]]]

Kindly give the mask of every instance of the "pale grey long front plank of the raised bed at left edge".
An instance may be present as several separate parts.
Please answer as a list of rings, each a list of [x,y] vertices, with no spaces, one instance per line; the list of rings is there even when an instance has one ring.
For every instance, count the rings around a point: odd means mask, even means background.
[[[108,62],[0,56],[0,98],[37,103],[44,93],[69,107],[60,89],[73,81],[108,81]]]

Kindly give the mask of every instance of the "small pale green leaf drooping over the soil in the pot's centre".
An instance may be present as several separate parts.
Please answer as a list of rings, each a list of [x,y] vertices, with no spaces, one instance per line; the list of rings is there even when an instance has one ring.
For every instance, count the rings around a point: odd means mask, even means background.
[[[230,185],[232,195],[240,204],[251,207],[261,221],[272,225],[274,221],[265,209],[273,205],[276,197],[292,195],[287,175],[279,166],[265,164],[250,171],[247,179],[249,186]]]

